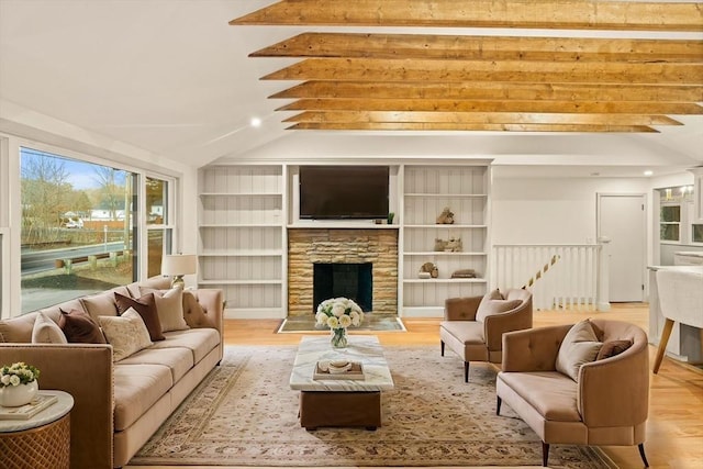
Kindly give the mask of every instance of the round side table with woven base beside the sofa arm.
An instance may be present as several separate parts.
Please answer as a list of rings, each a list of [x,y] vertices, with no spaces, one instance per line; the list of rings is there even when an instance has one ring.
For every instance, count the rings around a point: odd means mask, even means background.
[[[70,410],[64,391],[40,390],[58,401],[27,420],[0,420],[0,467],[35,469],[70,467]]]

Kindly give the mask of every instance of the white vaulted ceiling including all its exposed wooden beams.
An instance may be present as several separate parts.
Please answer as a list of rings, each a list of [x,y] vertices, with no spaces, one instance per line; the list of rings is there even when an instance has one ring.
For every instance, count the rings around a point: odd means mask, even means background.
[[[190,166],[373,155],[681,169],[703,165],[702,11],[0,0],[0,131],[38,123]]]

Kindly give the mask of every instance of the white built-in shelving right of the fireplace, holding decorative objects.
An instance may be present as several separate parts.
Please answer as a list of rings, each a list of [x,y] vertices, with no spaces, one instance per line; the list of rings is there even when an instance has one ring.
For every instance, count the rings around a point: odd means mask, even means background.
[[[440,316],[444,301],[453,297],[483,294],[488,278],[488,164],[406,165],[401,220],[402,314]],[[437,224],[444,208],[453,224]],[[436,239],[460,238],[460,252],[435,250]],[[433,263],[438,277],[419,278],[421,266]],[[451,278],[473,269],[477,278]]]

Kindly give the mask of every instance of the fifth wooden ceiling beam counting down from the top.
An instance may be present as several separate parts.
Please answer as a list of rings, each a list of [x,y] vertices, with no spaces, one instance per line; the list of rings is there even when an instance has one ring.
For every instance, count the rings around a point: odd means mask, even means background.
[[[585,114],[701,115],[695,103],[569,102],[569,101],[457,101],[398,99],[301,99],[277,111],[425,111],[425,112],[548,112]]]

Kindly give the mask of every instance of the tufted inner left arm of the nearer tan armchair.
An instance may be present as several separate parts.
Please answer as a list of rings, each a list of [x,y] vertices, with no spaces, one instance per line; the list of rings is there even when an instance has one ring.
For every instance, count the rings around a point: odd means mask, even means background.
[[[553,371],[571,324],[503,334],[503,371]]]

